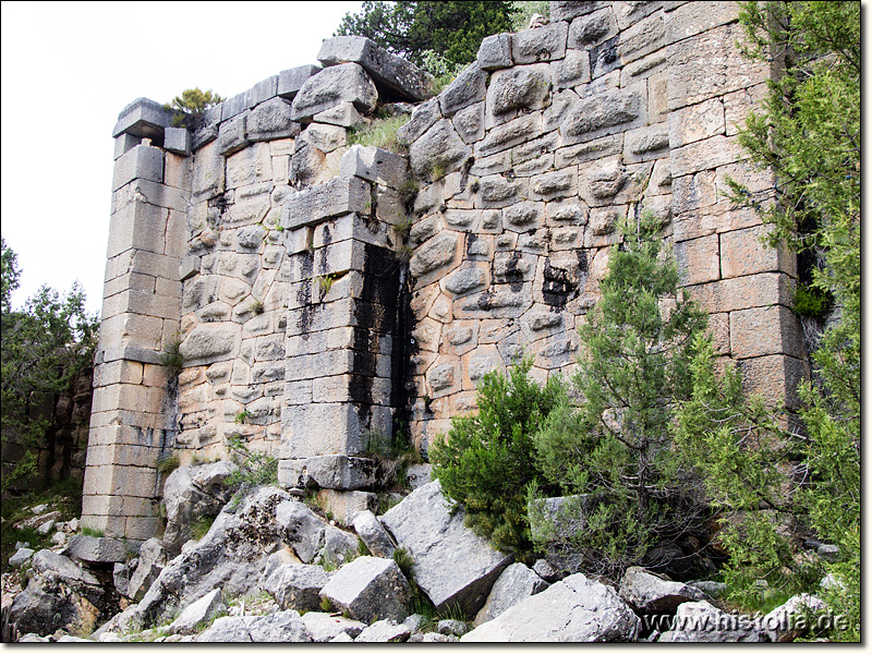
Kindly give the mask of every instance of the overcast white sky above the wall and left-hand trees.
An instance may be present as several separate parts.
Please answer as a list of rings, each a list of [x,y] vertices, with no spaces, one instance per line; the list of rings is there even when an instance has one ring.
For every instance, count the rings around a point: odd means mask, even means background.
[[[109,230],[112,126],[130,101],[185,88],[230,97],[317,63],[361,2],[2,3],[2,234],[21,306],[78,280],[98,312]]]

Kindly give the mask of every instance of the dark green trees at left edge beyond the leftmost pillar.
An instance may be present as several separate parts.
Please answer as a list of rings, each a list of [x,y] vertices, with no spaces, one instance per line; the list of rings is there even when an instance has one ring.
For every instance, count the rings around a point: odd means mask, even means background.
[[[43,287],[22,311],[12,310],[19,287],[17,258],[2,241],[2,443],[24,450],[23,458],[3,471],[2,491],[36,472],[36,449],[51,426],[37,408],[46,398],[69,388],[70,382],[94,361],[97,316],[85,311],[77,284],[59,294]]]

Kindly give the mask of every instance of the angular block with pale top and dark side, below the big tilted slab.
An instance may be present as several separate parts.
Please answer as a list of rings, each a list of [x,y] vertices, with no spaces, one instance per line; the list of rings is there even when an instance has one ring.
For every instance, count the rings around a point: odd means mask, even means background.
[[[322,589],[320,595],[347,610],[352,618],[368,623],[405,618],[411,592],[396,562],[362,556],[342,566]]]

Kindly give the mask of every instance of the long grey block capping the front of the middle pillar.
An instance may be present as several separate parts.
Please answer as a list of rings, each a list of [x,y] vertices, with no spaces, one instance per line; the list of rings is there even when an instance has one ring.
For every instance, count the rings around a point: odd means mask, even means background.
[[[371,209],[370,184],[359,178],[341,177],[289,195],[281,207],[280,225],[295,229],[342,214],[370,214]]]

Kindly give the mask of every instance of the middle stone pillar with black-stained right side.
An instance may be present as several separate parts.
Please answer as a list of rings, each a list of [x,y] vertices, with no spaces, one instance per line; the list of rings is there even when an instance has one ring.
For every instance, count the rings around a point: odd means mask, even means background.
[[[330,468],[325,457],[347,467],[348,457],[390,444],[402,405],[403,286],[391,222],[403,214],[396,187],[405,170],[397,155],[354,147],[342,158],[340,177],[295,194],[282,208],[291,281],[283,485],[296,485],[314,457],[319,468]],[[318,483],[348,491],[372,482],[365,474],[331,479]]]

